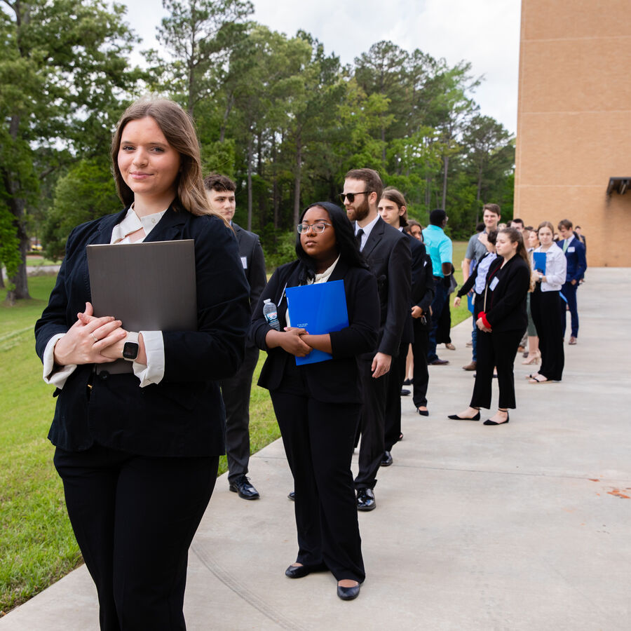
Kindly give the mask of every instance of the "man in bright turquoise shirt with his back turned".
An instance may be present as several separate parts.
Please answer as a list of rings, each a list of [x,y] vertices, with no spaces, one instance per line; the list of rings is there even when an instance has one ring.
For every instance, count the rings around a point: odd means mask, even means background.
[[[449,287],[452,275],[452,240],[445,234],[447,226],[447,213],[445,210],[437,208],[430,212],[430,225],[423,230],[423,242],[428,254],[432,259],[432,269],[435,282],[435,296],[432,302],[432,324],[429,334],[429,348],[427,351],[427,362],[433,366],[440,366],[449,363],[449,360],[442,360],[436,354],[436,336],[440,315],[449,301]]]

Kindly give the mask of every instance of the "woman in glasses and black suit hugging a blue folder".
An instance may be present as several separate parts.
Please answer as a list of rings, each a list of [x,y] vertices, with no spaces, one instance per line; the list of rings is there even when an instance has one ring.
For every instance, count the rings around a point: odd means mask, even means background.
[[[376,348],[379,294],[341,208],[328,202],[309,206],[298,232],[298,260],[273,273],[250,334],[268,353],[259,386],[270,391],[294,477],[299,550],[285,574],[301,578],[329,569],[337,595],[350,600],[365,578],[351,474],[362,407],[356,358]],[[293,327],[285,289],[327,280],[344,280],[348,327],[321,335]],[[278,306],[280,331],[263,315],[266,299]],[[294,358],[313,348],[331,353],[332,360],[297,366]]]

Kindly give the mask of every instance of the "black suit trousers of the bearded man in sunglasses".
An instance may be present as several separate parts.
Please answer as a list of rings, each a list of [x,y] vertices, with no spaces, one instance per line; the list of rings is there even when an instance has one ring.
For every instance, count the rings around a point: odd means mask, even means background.
[[[364,402],[360,415],[359,471],[355,477],[355,489],[374,489],[376,473],[386,449],[386,394],[388,374],[379,379],[372,377],[372,359],[358,359]]]

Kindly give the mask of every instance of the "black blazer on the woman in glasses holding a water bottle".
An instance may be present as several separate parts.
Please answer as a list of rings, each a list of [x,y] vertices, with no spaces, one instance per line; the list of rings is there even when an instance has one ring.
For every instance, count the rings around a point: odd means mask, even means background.
[[[277,390],[281,386],[285,366],[287,362],[294,361],[294,355],[280,347],[268,348],[265,344],[265,337],[271,327],[263,315],[263,303],[269,298],[276,304],[282,331],[283,327],[287,326],[285,288],[300,284],[300,271],[299,261],[281,265],[276,269],[252,315],[250,337],[262,351],[268,353],[258,383],[268,390]],[[304,375],[308,389],[316,400],[360,403],[362,394],[356,357],[376,348],[379,332],[379,295],[376,279],[367,269],[349,267],[339,259],[329,280],[344,280],[349,325],[330,334],[332,360],[298,366],[297,370]]]

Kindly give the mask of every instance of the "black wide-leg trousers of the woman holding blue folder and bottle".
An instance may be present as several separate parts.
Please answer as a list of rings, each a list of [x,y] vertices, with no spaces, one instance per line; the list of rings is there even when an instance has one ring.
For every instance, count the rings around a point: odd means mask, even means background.
[[[361,405],[280,391],[270,395],[294,476],[296,560],[312,567],[324,563],[338,581],[361,583],[365,573],[351,473]]]

